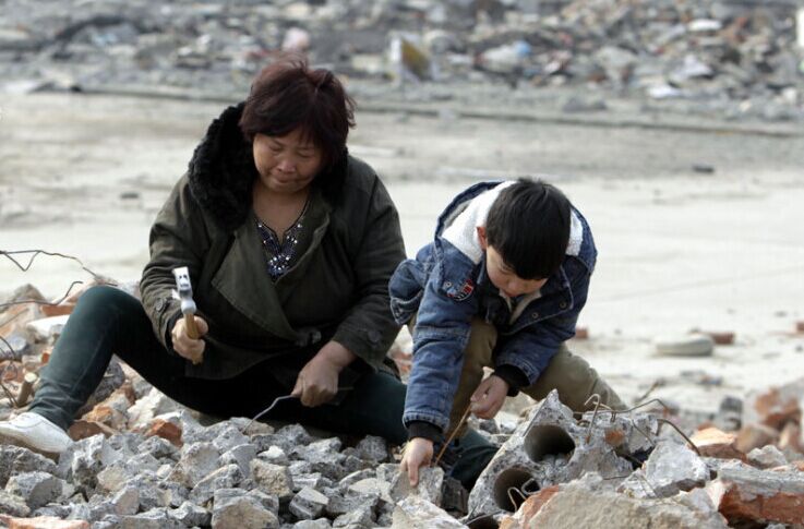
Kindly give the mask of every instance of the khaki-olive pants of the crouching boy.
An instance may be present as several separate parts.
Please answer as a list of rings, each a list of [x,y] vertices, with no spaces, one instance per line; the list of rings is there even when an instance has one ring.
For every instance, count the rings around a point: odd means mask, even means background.
[[[483,380],[483,368],[493,366],[496,340],[497,332],[492,324],[479,317],[472,321],[469,344],[464,352],[460,382],[449,414],[449,432],[453,432],[460,421],[470,404],[472,393]],[[598,372],[586,360],[569,352],[564,344],[536,384],[520,388],[524,394],[537,400],[543,399],[553,389],[557,389],[561,401],[574,411],[592,408],[593,406],[586,406],[586,401],[595,394],[600,395],[600,401],[611,408],[625,408],[614,389],[598,375]],[[459,435],[466,431],[465,429],[466,425],[461,425]]]

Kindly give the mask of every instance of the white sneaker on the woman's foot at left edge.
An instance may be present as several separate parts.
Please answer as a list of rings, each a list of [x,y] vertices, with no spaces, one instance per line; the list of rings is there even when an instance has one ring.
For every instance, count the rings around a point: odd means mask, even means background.
[[[0,444],[24,446],[53,459],[64,452],[72,440],[62,429],[44,417],[25,411],[0,422]]]

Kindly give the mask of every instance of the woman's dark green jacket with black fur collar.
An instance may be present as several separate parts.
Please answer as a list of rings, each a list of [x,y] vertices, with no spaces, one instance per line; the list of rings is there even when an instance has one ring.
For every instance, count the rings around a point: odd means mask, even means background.
[[[188,361],[188,376],[227,378],[271,360],[292,385],[329,339],[363,360],[352,372],[383,366],[399,329],[387,284],[405,259],[385,187],[347,153],[316,177],[305,214],[310,244],[275,285],[254,226],[257,173],[237,127],[241,112],[242,104],[229,107],[211,124],[152,228],[141,292],[156,336],[172,351],[170,330],[181,317],[172,269],[187,266],[199,315],[209,324],[204,361]]]

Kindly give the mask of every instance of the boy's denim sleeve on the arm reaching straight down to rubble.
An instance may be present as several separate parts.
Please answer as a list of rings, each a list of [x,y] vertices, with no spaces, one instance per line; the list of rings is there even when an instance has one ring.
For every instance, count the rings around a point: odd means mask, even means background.
[[[446,242],[440,251],[413,329],[413,364],[403,422],[406,426],[413,421],[429,422],[444,431],[478,301],[471,261]]]

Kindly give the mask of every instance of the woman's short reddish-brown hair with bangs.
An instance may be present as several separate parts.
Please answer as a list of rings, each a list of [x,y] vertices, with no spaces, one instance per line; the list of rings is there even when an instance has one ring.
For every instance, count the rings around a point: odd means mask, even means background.
[[[325,170],[344,155],[355,101],[333,72],[311,70],[304,56],[286,53],[252,83],[239,125],[249,143],[259,133],[284,136],[301,129],[304,140],[322,149]]]

